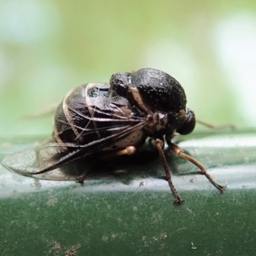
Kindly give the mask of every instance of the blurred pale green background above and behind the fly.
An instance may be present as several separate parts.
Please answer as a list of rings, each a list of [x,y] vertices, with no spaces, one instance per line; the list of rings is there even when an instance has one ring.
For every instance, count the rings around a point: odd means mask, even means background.
[[[20,121],[79,84],[151,67],[184,86],[198,118],[256,124],[255,1],[0,1],[0,134],[50,134]]]

